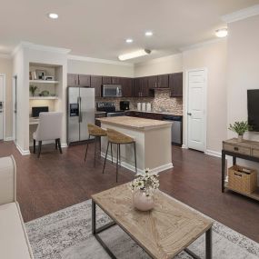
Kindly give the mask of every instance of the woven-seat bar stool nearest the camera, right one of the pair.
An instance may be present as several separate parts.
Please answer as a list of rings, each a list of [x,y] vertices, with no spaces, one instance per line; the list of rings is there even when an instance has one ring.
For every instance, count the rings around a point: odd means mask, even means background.
[[[116,183],[117,183],[118,182],[119,159],[120,159],[120,162],[121,162],[121,144],[134,144],[134,168],[135,168],[135,173],[137,173],[135,141],[132,137],[130,137],[126,134],[122,134],[118,131],[115,131],[114,129],[109,129],[109,128],[107,128],[107,137],[108,137],[108,144],[107,144],[107,149],[106,149],[106,154],[105,154],[105,164],[106,164],[109,144],[111,144],[111,147],[112,147],[112,144],[117,145],[117,162],[116,162]],[[105,173],[105,164],[104,164],[104,168],[103,168],[103,174]]]

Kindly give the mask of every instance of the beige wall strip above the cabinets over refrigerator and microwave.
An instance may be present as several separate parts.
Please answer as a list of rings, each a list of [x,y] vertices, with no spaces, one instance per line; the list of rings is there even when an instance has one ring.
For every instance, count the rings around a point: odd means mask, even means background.
[[[113,75],[134,77],[134,65],[115,65],[82,60],[67,60],[67,72],[85,75]]]

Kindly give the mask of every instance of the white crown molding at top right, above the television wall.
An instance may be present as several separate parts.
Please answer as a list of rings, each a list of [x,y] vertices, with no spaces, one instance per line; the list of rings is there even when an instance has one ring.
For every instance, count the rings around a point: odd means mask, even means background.
[[[244,8],[242,10],[236,11],[229,15],[224,15],[221,19],[229,24],[234,23],[240,20],[244,20],[246,18],[252,17],[254,15],[259,15],[259,5],[253,5],[248,8]]]

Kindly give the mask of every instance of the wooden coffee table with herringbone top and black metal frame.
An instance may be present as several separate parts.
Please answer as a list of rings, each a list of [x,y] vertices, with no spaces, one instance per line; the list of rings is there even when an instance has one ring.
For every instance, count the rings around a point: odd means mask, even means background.
[[[92,232],[105,251],[116,258],[101,239],[99,233],[112,225],[119,225],[152,258],[173,258],[183,250],[200,258],[187,247],[205,233],[205,258],[212,258],[213,221],[177,203],[159,191],[155,194],[154,209],[140,212],[132,204],[129,184],[92,195]],[[96,204],[113,222],[96,228]]]

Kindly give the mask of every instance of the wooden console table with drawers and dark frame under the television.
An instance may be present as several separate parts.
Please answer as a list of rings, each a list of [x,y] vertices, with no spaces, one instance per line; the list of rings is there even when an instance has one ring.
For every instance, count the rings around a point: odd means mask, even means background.
[[[259,163],[259,142],[244,140],[238,142],[237,138],[232,138],[223,142],[222,149],[222,192],[224,189],[229,189],[238,194],[244,194],[230,188],[227,183],[224,183],[225,179],[225,155],[233,157],[233,164],[236,164],[236,158],[242,158],[244,160],[254,161]],[[252,194],[244,194],[254,200],[259,201],[259,187]]]

